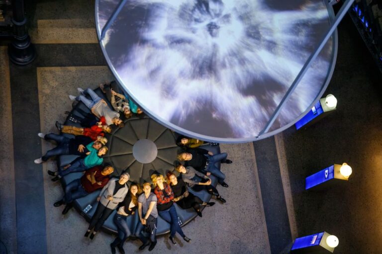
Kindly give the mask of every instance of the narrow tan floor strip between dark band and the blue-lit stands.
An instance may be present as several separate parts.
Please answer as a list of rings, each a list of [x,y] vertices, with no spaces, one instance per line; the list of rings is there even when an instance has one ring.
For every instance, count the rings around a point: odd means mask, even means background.
[[[284,190],[285,201],[286,201],[286,211],[287,211],[288,219],[289,219],[290,233],[292,236],[292,240],[294,240],[297,238],[298,230],[297,230],[297,223],[296,223],[296,218],[294,213],[292,192],[290,188],[289,171],[286,165],[286,152],[285,152],[283,133],[279,133],[275,135],[275,142],[276,142],[276,149],[277,149],[277,157],[279,159],[280,173],[282,176],[281,180],[283,183],[283,190]]]

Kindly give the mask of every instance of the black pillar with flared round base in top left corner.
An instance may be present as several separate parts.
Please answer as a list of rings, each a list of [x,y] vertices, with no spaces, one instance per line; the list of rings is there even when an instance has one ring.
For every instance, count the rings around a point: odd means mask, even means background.
[[[12,0],[13,39],[8,46],[9,59],[13,64],[25,66],[36,58],[36,52],[26,28],[24,0]]]

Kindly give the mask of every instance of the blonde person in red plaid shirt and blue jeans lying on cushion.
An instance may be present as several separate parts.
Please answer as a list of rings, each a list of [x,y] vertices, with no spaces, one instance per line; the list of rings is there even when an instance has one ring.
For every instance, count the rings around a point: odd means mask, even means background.
[[[173,245],[177,245],[175,242],[175,234],[178,232],[181,237],[186,241],[190,242],[191,239],[188,238],[178,223],[178,213],[174,206],[174,192],[171,189],[170,185],[165,182],[165,179],[162,175],[151,175],[151,182],[154,186],[154,193],[157,196],[157,209],[159,215],[170,223],[170,241]]]

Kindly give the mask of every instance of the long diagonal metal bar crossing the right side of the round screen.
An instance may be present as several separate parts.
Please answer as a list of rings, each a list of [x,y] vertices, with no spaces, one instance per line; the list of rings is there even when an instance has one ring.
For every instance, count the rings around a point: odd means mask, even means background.
[[[293,83],[290,85],[288,90],[286,91],[286,94],[284,95],[283,99],[277,106],[276,110],[273,112],[273,115],[271,116],[270,120],[268,121],[267,125],[264,127],[262,131],[260,131],[258,138],[263,134],[268,132],[268,130],[271,128],[273,123],[276,121],[277,117],[279,116],[281,110],[285,106],[286,102],[288,101],[289,97],[292,95],[294,89],[297,87],[298,83],[301,81],[302,77],[304,76],[305,72],[308,70],[310,65],[313,63],[313,61],[317,58],[318,54],[321,52],[322,48],[325,46],[326,42],[329,40],[329,38],[332,36],[333,32],[336,30],[338,24],[341,22],[342,18],[345,16],[351,5],[353,4],[354,0],[346,0],[345,3],[342,5],[341,9],[338,11],[333,24],[331,24],[329,30],[326,32],[324,37],[321,40],[321,43],[314,49],[313,53],[310,55],[310,57],[306,60],[305,64],[302,66],[300,72],[297,74],[296,78],[294,79]]]

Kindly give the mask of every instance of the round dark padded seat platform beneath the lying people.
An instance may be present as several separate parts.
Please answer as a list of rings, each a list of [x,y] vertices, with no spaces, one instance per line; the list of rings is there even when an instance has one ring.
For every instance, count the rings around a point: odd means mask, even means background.
[[[107,101],[100,89],[96,89],[95,92]],[[111,105],[109,104],[111,107]],[[73,109],[72,114],[81,114],[77,111],[81,109],[85,112],[90,112],[86,106],[80,102]],[[66,121],[65,124],[72,126],[79,126],[70,121]],[[114,167],[113,177],[118,177],[122,171],[127,171],[130,174],[130,181],[143,184],[144,182],[150,182],[150,176],[153,173],[159,173],[166,176],[168,171],[174,172],[176,176],[179,173],[175,171],[175,161],[177,160],[177,154],[181,151],[181,148],[176,145],[176,133],[170,129],[158,124],[148,116],[133,116],[130,119],[124,120],[125,126],[122,128],[114,127],[110,134],[105,134],[107,137],[107,147],[109,148],[107,154],[103,157],[104,165],[111,165]],[[68,137],[73,137],[71,134],[65,134]],[[212,151],[214,154],[219,153],[219,146],[204,145],[203,148]],[[57,158],[58,166],[64,166],[72,162],[77,156],[75,155],[62,155]],[[220,168],[220,162],[216,163],[216,166]],[[61,179],[63,187],[75,179],[81,178],[82,172],[71,173]],[[217,180],[212,177],[213,186],[217,185]],[[99,191],[90,193],[89,195],[76,199],[74,201],[74,207],[90,221],[97,205],[96,197]],[[208,202],[211,195],[207,191],[193,191],[193,194],[200,197],[203,201]],[[92,208],[87,211],[85,208],[91,205]],[[182,226],[189,223],[197,215],[195,211],[190,209],[182,209],[176,205],[180,223]],[[103,224],[103,230],[109,233],[116,233],[117,228],[113,222],[114,214],[116,211],[107,218]],[[138,213],[127,217],[127,224],[130,227],[130,231],[135,232],[135,228],[139,222]],[[85,229],[84,229],[85,230]],[[170,231],[170,225],[164,221],[160,216],[158,217],[158,230],[157,235],[162,235]]]

